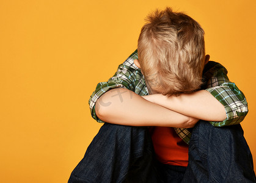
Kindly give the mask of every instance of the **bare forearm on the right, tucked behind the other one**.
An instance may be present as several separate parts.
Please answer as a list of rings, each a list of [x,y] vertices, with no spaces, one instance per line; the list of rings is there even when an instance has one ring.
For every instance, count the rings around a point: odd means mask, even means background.
[[[223,121],[226,118],[224,106],[205,90],[183,93],[180,96],[161,94],[145,96],[145,99],[183,115],[206,121]]]

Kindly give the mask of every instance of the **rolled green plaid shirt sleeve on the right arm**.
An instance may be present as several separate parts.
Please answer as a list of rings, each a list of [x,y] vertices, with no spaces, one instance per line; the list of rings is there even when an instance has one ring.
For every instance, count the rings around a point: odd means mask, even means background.
[[[207,91],[225,107],[224,121],[210,121],[213,126],[228,126],[244,120],[248,112],[247,101],[241,90],[227,77],[227,70],[220,63],[209,62],[204,76],[208,77]],[[210,76],[210,77],[209,77]]]

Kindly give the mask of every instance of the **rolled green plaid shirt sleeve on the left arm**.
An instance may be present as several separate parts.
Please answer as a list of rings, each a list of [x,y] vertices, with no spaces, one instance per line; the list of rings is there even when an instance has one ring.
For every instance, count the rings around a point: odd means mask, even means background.
[[[100,98],[101,95],[106,93],[113,88],[127,88],[128,90],[134,91],[136,80],[137,68],[134,66],[133,60],[137,59],[137,50],[131,54],[128,59],[125,60],[119,67],[117,68],[117,72],[111,77],[108,82],[100,82],[95,91],[93,91],[92,95],[89,99],[90,113],[92,117],[97,120],[99,123],[104,123],[100,118],[97,117],[95,113],[95,104]]]

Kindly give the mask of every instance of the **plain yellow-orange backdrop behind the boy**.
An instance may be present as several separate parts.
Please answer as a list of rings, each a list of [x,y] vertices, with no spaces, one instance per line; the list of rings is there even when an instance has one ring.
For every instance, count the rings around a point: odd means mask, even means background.
[[[89,96],[136,49],[145,16],[166,5],[199,21],[211,60],[246,95],[256,162],[254,0],[1,0],[1,182],[67,182],[101,126]]]

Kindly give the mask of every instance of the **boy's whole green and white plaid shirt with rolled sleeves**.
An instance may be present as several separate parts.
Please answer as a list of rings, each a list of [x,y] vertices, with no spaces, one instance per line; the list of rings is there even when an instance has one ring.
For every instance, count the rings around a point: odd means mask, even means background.
[[[95,113],[95,103],[106,91],[112,88],[127,88],[138,95],[148,95],[144,76],[141,70],[134,64],[134,59],[137,59],[137,50],[125,62],[119,65],[117,72],[108,82],[100,82],[96,90],[93,91],[92,96],[90,96],[90,112],[92,117],[98,122],[104,123]],[[227,118],[224,121],[209,121],[213,126],[228,126],[243,121],[248,112],[246,98],[243,92],[233,82],[229,81],[227,70],[224,66],[217,62],[208,62],[203,70],[203,82],[202,89],[209,91],[211,95],[218,99],[225,107],[227,114]],[[174,129],[189,144],[191,129]]]

